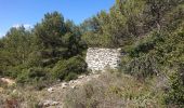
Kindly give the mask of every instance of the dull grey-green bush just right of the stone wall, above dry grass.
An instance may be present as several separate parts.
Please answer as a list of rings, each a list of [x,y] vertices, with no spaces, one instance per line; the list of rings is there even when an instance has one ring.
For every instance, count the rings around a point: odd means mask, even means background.
[[[127,73],[135,76],[139,79],[145,79],[153,75],[158,75],[159,64],[157,57],[150,53],[142,57],[133,58],[124,66]]]

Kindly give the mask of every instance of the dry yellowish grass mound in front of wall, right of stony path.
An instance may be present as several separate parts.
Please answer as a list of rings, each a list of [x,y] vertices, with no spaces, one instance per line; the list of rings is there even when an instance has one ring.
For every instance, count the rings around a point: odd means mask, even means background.
[[[160,108],[161,92],[153,79],[140,82],[133,77],[106,72],[65,95],[66,108]]]

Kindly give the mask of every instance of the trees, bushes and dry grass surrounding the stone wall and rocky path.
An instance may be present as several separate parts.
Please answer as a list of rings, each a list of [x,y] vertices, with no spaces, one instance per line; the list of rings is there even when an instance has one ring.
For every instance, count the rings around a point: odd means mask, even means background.
[[[16,84],[0,82],[5,90],[0,105],[17,108],[27,100],[30,108],[39,107],[34,91],[89,72],[89,46],[121,48],[126,55],[118,71],[68,89],[66,108],[184,107],[183,0],[116,0],[108,13],[102,11],[81,25],[53,12],[32,29],[11,28],[0,39],[0,76]],[[11,95],[23,86],[29,86],[25,95]]]

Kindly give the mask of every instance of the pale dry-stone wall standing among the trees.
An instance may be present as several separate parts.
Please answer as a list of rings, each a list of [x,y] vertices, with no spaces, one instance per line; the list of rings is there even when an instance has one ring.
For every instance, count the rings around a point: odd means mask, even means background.
[[[106,68],[117,69],[120,64],[120,49],[89,48],[86,62],[88,68],[94,71],[103,71]]]

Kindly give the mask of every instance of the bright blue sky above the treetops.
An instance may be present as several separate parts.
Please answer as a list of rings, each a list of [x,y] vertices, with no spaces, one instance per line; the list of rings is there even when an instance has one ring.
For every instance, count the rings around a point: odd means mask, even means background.
[[[0,37],[10,27],[32,26],[48,12],[58,11],[80,24],[97,12],[108,11],[115,0],[0,0]]]

